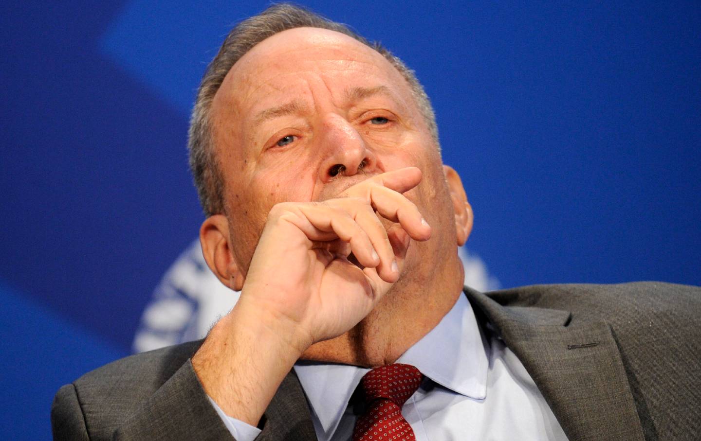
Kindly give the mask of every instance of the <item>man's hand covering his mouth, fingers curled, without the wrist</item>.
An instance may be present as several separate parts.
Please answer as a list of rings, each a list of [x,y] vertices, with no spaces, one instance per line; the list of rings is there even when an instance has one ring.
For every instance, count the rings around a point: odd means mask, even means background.
[[[301,350],[350,330],[399,278],[409,237],[430,237],[421,213],[402,195],[419,181],[421,171],[409,167],[367,179],[336,199],[275,205],[240,299],[287,322]],[[378,215],[399,225],[388,232]]]

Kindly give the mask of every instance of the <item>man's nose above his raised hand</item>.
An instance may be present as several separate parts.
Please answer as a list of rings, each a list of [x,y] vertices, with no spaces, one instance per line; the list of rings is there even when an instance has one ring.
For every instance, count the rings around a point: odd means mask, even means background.
[[[351,123],[339,115],[332,115],[322,125],[320,150],[325,154],[319,169],[322,182],[374,169],[375,155]]]

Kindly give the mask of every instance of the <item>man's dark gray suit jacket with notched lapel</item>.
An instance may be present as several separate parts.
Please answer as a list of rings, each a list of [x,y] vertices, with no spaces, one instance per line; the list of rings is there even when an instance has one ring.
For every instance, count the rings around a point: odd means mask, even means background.
[[[668,283],[465,289],[536,381],[571,441],[701,439],[701,288]],[[190,357],[200,342],[130,356],[58,391],[58,440],[226,440]],[[287,375],[257,440],[315,440]],[[518,434],[514,434],[518,439]]]

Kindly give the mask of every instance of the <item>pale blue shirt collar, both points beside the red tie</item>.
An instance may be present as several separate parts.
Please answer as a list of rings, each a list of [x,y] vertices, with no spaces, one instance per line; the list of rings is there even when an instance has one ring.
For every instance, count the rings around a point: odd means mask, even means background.
[[[416,366],[437,384],[482,400],[486,397],[489,369],[485,342],[470,302],[465,295],[460,295],[440,323],[404,352],[397,363]],[[369,369],[298,361],[294,371],[318,419],[315,426],[320,426],[325,439],[330,439],[353,391]]]

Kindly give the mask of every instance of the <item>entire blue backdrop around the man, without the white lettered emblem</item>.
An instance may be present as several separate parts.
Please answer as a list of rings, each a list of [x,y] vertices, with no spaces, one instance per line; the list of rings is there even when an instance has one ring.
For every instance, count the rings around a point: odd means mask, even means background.
[[[701,6],[306,1],[416,69],[468,242],[502,286],[701,284]],[[189,110],[264,2],[0,6],[4,439],[47,439],[53,393],[130,351],[203,217]]]

